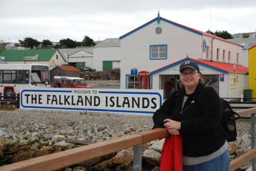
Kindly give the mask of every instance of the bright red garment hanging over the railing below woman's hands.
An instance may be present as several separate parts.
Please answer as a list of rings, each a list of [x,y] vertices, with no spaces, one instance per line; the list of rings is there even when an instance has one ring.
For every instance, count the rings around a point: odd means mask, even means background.
[[[182,171],[181,134],[170,135],[164,141],[160,157],[160,171]]]

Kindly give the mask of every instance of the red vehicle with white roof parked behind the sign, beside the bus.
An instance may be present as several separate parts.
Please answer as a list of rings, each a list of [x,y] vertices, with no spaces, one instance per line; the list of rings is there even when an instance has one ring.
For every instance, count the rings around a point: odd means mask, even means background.
[[[52,87],[56,87],[56,81],[59,81],[63,88],[95,89],[95,87],[87,86],[84,78],[55,76]]]

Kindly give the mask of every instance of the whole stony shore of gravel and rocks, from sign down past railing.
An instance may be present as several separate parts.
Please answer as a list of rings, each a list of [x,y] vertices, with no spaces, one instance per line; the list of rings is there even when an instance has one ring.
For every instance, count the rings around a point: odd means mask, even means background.
[[[152,116],[110,113],[14,110],[0,111],[0,166],[151,130]],[[238,140],[229,143],[230,160],[250,150],[250,122],[238,122]],[[73,143],[65,139],[74,140]],[[143,145],[143,170],[159,170],[164,140]],[[80,143],[79,143],[80,142]],[[133,149],[60,170],[133,170]],[[125,160],[120,160],[120,159]],[[111,163],[111,165],[110,165]],[[239,170],[251,166],[250,161]],[[1,168],[0,168],[1,170]]]

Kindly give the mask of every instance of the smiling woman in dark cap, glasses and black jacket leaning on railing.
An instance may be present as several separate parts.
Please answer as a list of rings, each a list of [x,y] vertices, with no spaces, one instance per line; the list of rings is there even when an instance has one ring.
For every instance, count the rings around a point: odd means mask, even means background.
[[[218,128],[222,102],[212,87],[203,85],[201,76],[195,61],[183,62],[178,80],[182,88],[156,110],[153,120],[171,136],[181,132],[183,170],[228,171],[228,143]]]

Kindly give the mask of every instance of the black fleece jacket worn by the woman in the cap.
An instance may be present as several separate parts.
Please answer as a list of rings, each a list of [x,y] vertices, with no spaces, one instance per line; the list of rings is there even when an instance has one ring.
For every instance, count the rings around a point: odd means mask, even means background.
[[[199,84],[195,92],[189,95],[182,110],[184,95],[184,87],[174,91],[154,113],[154,124],[163,127],[164,119],[181,122],[183,156],[210,155],[226,141],[218,128],[222,116],[220,97],[213,87]]]

